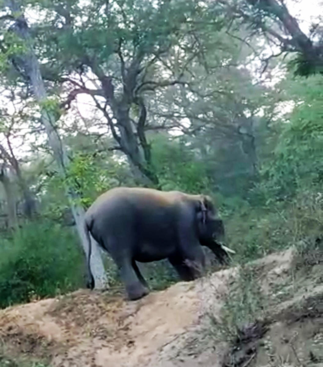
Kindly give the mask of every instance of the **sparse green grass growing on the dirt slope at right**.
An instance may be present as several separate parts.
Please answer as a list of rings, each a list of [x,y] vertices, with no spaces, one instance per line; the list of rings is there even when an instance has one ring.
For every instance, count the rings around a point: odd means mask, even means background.
[[[266,265],[257,265],[257,262],[241,264],[238,273],[228,280],[228,293],[220,315],[213,315],[211,310],[206,312],[210,321],[206,334],[216,342],[228,342],[235,350],[235,345],[242,342],[246,333],[252,333],[253,329],[260,332],[258,328],[262,328],[263,333],[269,324],[275,322],[277,315],[273,315],[275,312],[280,315],[277,307],[279,308],[282,302],[294,297],[302,298],[305,292],[311,292],[316,286],[323,284],[323,241],[318,237],[314,238],[315,236],[308,236],[306,240],[294,244],[290,267],[283,275],[277,274],[272,282],[268,280],[269,269]],[[267,282],[267,286],[264,282]],[[318,297],[322,298],[320,295]],[[302,315],[303,306],[300,302],[292,305],[289,312],[295,311]],[[311,308],[304,307],[307,315]]]

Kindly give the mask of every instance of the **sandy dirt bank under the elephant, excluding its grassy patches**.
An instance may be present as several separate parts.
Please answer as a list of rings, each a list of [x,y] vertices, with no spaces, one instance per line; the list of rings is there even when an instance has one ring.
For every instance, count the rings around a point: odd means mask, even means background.
[[[288,323],[292,325],[289,326],[292,331],[284,335],[289,346],[293,340],[293,348],[301,348],[302,338],[297,339],[299,344],[295,344],[296,339],[291,335],[293,330],[302,335],[315,331],[315,345],[323,350],[320,339],[320,333],[323,335],[322,307],[315,308],[315,300],[322,302],[320,281],[312,284],[313,275],[306,275],[293,294],[285,294],[285,298],[279,295],[282,289],[288,290],[290,286],[292,253],[288,250],[253,263],[264,294],[279,302],[268,302],[269,326],[265,330],[259,329],[263,333],[254,332],[250,340],[240,338],[234,344],[215,342],[203,332],[209,322],[206,313],[212,313],[215,318],[221,313],[228,289],[238,273],[237,268],[231,268],[194,282],[177,283],[138,301],[128,302],[121,296],[80,290],[7,308],[0,311],[0,339],[4,353],[14,357],[32,355],[47,360],[53,367],[258,366],[259,363],[271,363],[267,358],[265,338],[269,336],[276,340],[276,348],[280,339],[275,339],[275,335],[285,332]],[[302,302],[298,297],[302,297]],[[295,305],[303,304],[304,300],[309,302],[307,306],[297,309]],[[305,313],[311,315],[309,309],[313,310],[314,316],[302,319]],[[298,315],[298,319],[291,315]],[[306,324],[303,333],[300,329],[302,322],[313,322],[315,327],[311,329]],[[247,335],[248,331],[245,333]],[[242,350],[241,355],[235,348]],[[319,363],[321,357],[317,349],[311,347],[309,350],[312,359]],[[297,358],[289,356],[289,361],[297,362]],[[287,357],[285,359],[288,361]]]

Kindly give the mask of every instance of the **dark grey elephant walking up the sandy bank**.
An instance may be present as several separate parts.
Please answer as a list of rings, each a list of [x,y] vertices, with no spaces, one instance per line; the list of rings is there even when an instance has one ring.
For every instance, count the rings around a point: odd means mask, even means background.
[[[210,197],[179,191],[114,188],[99,196],[85,214],[85,231],[113,258],[131,300],[148,294],[136,261],[168,258],[182,280],[194,280],[205,267],[202,246],[221,261],[216,240],[224,235]],[[89,241],[91,256],[91,241]],[[223,261],[222,261],[223,262]],[[94,288],[89,265],[88,287]]]

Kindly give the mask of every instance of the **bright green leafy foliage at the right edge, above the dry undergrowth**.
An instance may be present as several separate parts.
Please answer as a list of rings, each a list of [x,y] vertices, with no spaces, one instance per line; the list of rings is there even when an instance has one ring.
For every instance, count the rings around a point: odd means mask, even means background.
[[[289,121],[280,127],[274,152],[261,168],[267,181],[258,188],[268,202],[293,196],[301,187],[323,178],[323,79],[311,77],[301,86],[295,84],[290,87],[296,88],[291,92],[298,94],[297,105]]]

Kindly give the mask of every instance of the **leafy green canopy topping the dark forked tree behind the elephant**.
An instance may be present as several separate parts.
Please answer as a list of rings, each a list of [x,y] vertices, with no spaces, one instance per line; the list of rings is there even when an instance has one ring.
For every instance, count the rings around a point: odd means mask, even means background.
[[[76,2],[69,6],[70,17],[79,19],[66,27],[64,32],[51,23],[53,12],[65,2],[32,1],[32,5],[47,12],[46,26],[34,34],[37,50],[43,57],[60,65],[60,72],[77,68],[86,58],[95,57],[100,67],[116,69],[120,63],[117,52],[121,51],[124,60],[154,52],[165,52],[172,44],[178,43],[185,21],[198,17],[201,8],[195,1],[125,0],[91,3]],[[57,70],[58,70],[57,69]]]

